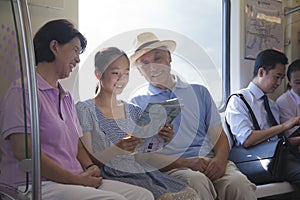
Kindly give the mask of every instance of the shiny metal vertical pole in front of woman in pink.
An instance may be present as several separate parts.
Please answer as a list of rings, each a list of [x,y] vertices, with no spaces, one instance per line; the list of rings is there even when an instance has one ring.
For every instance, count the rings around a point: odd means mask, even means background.
[[[41,199],[41,148],[38,115],[38,94],[36,86],[34,47],[27,0],[17,0],[21,34],[23,39],[24,60],[29,93],[30,126],[32,140],[32,199]]]

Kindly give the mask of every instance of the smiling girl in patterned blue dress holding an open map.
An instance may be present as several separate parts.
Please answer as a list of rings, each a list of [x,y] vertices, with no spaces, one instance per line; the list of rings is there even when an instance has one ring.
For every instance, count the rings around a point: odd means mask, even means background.
[[[95,98],[76,105],[84,136],[83,143],[100,161],[101,176],[138,185],[150,190],[155,199],[199,199],[185,183],[158,170],[139,164],[134,151],[139,138],[132,133],[142,111],[139,107],[117,100],[128,83],[130,62],[115,47],[99,51],[95,56],[95,75],[99,88]],[[159,133],[166,142],[173,136],[173,126]]]

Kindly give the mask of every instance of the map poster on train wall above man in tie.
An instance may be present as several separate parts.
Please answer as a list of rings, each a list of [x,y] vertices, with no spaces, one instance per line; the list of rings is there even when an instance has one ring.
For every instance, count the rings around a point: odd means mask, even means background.
[[[247,0],[245,4],[245,58],[268,48],[282,50],[282,3],[276,0]]]

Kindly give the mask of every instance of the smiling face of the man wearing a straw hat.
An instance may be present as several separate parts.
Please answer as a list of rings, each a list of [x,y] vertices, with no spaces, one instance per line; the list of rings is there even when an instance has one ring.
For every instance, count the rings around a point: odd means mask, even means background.
[[[153,85],[167,85],[171,76],[171,54],[168,50],[153,49],[137,59],[137,67]]]

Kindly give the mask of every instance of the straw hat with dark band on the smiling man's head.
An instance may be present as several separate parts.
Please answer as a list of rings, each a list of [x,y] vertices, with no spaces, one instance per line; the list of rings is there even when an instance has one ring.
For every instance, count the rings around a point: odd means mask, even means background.
[[[144,32],[136,37],[135,47],[136,50],[134,54],[130,56],[132,63],[135,63],[135,61],[145,53],[159,47],[166,47],[172,52],[176,47],[176,42],[173,40],[159,40],[154,33]]]

